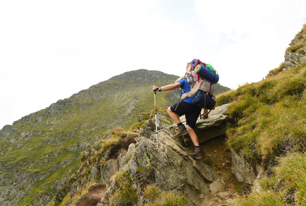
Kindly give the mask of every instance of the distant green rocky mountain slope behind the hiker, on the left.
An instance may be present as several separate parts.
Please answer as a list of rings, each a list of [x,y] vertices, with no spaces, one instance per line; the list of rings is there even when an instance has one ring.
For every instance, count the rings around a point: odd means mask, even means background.
[[[116,127],[129,128],[154,108],[153,84],[178,76],[139,69],[58,100],[0,130],[0,205],[44,205],[80,163],[80,152]],[[219,87],[219,86],[217,86]],[[221,87],[220,87],[221,88]],[[158,93],[163,108],[179,91]]]

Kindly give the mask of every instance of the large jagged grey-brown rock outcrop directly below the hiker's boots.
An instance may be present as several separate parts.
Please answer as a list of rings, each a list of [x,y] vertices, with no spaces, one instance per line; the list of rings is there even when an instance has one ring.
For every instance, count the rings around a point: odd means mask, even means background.
[[[180,191],[187,196],[191,205],[196,205],[210,194],[210,185],[215,184],[219,176],[203,161],[189,157],[187,150],[180,146],[172,133],[164,130],[158,135],[158,148],[154,141],[145,137],[131,144],[128,152],[121,155],[119,168],[128,171],[134,179],[137,179],[139,168],[150,171],[152,180],[161,188]],[[139,188],[135,182],[134,187]],[[108,205],[114,190],[115,186],[110,185],[100,205]]]

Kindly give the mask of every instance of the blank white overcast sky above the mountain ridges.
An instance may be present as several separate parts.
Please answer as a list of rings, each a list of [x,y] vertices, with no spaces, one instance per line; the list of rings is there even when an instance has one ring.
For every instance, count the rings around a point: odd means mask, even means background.
[[[135,69],[257,82],[306,23],[305,0],[0,0],[0,129]],[[172,83],[172,82],[169,82]]]

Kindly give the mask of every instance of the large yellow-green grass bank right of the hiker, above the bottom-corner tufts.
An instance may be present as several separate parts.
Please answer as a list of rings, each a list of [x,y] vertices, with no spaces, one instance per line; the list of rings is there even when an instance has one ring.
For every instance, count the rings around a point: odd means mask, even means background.
[[[228,145],[250,159],[302,150],[306,143],[306,67],[291,69],[222,95],[228,107]],[[288,148],[290,145],[290,148]]]

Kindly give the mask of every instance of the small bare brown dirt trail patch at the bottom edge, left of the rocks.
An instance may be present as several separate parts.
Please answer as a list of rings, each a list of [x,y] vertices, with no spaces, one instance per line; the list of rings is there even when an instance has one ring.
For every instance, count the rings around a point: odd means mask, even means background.
[[[106,185],[99,184],[89,187],[89,193],[80,198],[76,205],[78,206],[95,206],[106,192]]]

